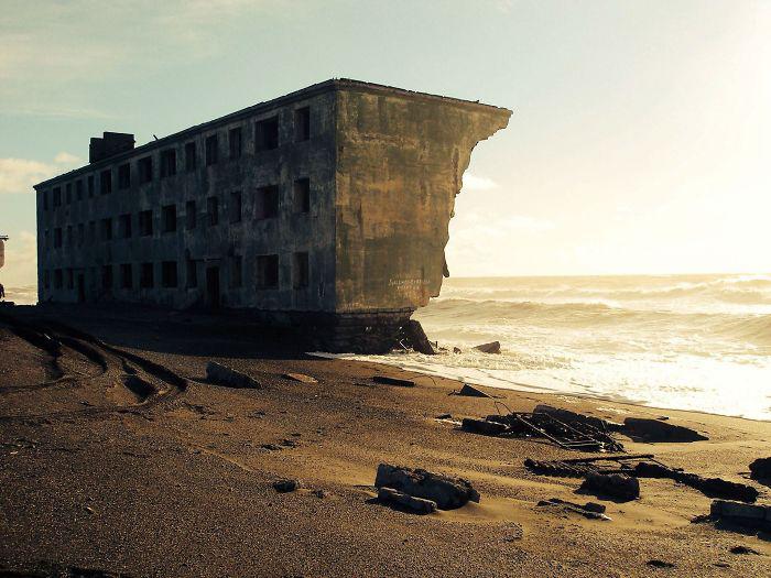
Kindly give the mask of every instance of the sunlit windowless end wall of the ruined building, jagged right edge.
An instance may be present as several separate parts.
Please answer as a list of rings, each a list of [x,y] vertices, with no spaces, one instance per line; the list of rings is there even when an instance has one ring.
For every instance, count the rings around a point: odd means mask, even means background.
[[[414,310],[439,294],[455,196],[506,109],[337,94],[336,310]]]

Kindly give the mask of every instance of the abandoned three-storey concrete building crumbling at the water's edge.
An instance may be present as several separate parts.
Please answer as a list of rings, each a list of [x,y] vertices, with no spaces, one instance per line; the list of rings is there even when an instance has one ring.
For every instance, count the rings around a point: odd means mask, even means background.
[[[34,187],[39,299],[238,309],[381,349],[438,295],[471,150],[510,114],[333,79],[139,148],[105,132]]]

